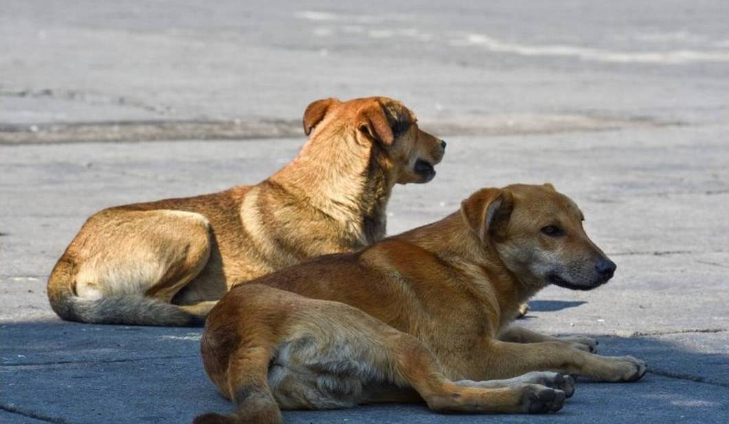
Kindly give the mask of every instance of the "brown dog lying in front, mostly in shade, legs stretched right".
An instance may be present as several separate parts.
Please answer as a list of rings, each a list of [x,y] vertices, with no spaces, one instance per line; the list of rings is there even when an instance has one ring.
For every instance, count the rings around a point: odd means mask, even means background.
[[[442,221],[233,288],[201,350],[237,412],[196,423],[279,423],[279,407],[402,401],[408,389],[437,411],[557,410],[573,391],[562,374],[634,381],[644,362],[509,324],[540,288],[587,290],[614,271],[551,185],[482,189]]]

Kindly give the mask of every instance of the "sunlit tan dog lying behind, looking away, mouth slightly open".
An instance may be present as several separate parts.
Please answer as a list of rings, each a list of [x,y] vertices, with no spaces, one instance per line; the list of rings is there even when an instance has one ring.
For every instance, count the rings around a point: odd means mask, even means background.
[[[389,98],[308,106],[295,160],[254,186],[139,203],[86,221],[48,280],[61,318],[199,323],[233,283],[385,234],[394,184],[425,183],[445,141]]]

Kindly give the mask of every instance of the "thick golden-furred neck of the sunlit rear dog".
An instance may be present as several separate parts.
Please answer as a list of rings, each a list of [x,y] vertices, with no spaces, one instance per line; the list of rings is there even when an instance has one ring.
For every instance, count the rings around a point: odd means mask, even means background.
[[[372,146],[341,132],[317,132],[299,155],[269,178],[338,226],[343,247],[370,246],[385,235],[386,206],[394,181]]]

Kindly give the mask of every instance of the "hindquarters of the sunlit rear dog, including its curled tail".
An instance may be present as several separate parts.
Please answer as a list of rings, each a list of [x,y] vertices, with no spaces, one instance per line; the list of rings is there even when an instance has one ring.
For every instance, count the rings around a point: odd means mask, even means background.
[[[208,262],[211,234],[198,213],[112,209],[90,218],[48,281],[56,313],[70,321],[190,325],[200,316],[171,299]]]

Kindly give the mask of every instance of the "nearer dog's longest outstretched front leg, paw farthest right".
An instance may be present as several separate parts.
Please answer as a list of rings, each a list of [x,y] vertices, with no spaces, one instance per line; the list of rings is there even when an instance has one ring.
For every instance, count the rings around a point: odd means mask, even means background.
[[[632,356],[593,355],[564,342],[521,344],[491,340],[484,353],[486,378],[553,371],[598,381],[630,382],[643,377],[647,369],[644,361]]]

